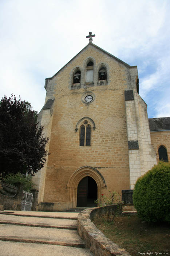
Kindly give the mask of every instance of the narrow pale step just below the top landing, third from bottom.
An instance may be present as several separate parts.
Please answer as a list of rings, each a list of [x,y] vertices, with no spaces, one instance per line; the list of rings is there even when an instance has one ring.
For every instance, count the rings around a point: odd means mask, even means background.
[[[34,226],[34,227],[49,227],[56,229],[77,230],[78,221],[72,219],[57,219],[57,218],[36,218],[25,217],[18,215],[0,215],[0,224]]]

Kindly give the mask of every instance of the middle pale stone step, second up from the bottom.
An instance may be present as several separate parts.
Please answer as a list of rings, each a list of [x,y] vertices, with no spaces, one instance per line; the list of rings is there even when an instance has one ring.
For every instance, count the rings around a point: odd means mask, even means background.
[[[84,248],[76,230],[51,229],[0,224],[0,240],[38,244],[53,244]]]

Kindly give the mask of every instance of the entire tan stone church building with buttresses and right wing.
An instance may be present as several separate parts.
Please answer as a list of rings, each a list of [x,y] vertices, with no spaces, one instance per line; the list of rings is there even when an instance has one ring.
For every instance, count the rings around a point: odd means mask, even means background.
[[[170,159],[170,118],[150,118],[137,66],[92,43],[45,82],[38,122],[50,140],[33,182],[39,210],[94,206],[101,194],[133,189],[159,159]]]

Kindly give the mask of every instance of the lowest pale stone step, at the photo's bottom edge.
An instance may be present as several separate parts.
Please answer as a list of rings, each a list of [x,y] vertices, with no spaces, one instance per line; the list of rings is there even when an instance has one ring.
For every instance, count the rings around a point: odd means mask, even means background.
[[[93,256],[86,248],[0,241],[1,256]]]

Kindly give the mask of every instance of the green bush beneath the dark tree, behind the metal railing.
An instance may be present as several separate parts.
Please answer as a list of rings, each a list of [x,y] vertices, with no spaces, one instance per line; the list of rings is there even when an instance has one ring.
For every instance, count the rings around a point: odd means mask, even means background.
[[[20,182],[24,186],[23,189],[29,192],[32,189],[32,185],[33,185],[31,179],[32,179],[31,175],[27,175],[27,177],[25,177],[21,173],[16,173],[16,174],[10,173],[7,176],[5,176],[5,178],[3,178],[3,181],[11,185],[15,185]]]

